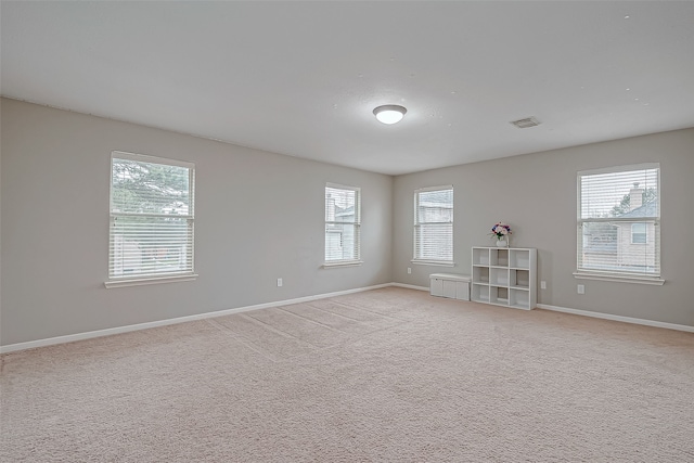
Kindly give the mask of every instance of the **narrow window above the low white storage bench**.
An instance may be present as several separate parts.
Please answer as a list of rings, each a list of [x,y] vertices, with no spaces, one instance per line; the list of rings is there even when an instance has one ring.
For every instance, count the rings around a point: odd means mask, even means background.
[[[414,192],[414,260],[453,263],[453,187]]]

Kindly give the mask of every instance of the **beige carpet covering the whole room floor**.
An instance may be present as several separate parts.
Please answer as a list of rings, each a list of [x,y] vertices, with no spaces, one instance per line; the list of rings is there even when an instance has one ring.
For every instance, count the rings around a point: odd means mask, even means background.
[[[694,335],[384,288],[2,357],[2,462],[694,462]]]

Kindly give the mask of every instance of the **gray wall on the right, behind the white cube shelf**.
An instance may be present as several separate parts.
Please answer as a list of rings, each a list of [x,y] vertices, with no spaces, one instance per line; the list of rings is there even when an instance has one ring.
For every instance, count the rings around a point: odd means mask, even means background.
[[[663,286],[576,280],[576,175],[660,163]],[[493,245],[503,220],[511,245],[538,248],[538,303],[694,326],[694,129],[534,153],[397,177],[394,190],[394,281],[428,286],[435,272],[471,273],[471,247]],[[413,192],[453,184],[455,268],[412,258]],[[412,274],[407,268],[412,268]],[[577,284],[586,294],[577,294]]]

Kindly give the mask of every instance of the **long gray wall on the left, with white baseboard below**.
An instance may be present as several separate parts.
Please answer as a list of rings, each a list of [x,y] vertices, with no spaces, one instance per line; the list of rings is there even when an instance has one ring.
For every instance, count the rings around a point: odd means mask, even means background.
[[[391,281],[389,176],[14,100],[1,108],[2,345]],[[196,281],[104,288],[114,150],[195,163]],[[320,268],[329,181],[361,188],[361,267]]]

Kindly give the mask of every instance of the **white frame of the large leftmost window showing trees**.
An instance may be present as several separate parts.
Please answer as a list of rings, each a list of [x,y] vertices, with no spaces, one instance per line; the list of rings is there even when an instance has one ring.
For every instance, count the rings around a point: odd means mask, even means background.
[[[113,169],[114,160],[124,159],[138,163],[146,163],[153,165],[175,166],[188,169],[189,175],[189,210],[188,214],[176,215],[176,218],[185,219],[190,229],[190,250],[187,253],[187,261],[190,261],[190,268],[181,272],[146,272],[140,274],[128,274],[124,276],[116,276],[112,274],[112,269],[115,267],[113,262],[113,230],[114,223],[118,217],[126,218],[152,218],[160,219],[165,215],[160,214],[146,214],[146,213],[124,213],[114,211],[114,182],[113,182]],[[195,164],[184,160],[169,159],[157,156],[150,156],[144,154],[126,153],[121,151],[113,151],[111,153],[110,162],[110,188],[108,188],[108,256],[107,256],[107,274],[108,279],[104,282],[104,286],[107,288],[121,287],[121,286],[139,286],[157,283],[172,283],[180,281],[192,281],[198,275],[195,272]],[[155,222],[153,222],[155,223]]]

